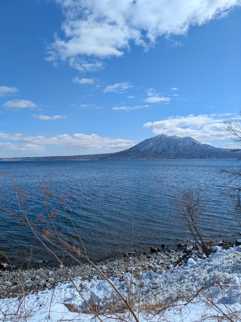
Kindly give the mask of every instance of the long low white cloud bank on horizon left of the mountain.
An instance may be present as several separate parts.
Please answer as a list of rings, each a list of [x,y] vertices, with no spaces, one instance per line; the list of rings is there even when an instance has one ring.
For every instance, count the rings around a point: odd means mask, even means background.
[[[0,132],[1,141],[11,141],[19,144],[27,145],[40,145],[45,146],[60,145],[65,148],[73,150],[94,150],[94,149],[119,149],[120,147],[129,148],[135,145],[135,141],[121,139],[99,137],[97,134],[86,135],[82,133],[75,133],[72,136],[68,134],[56,135],[53,137],[46,137],[39,135],[35,137],[24,137],[22,133],[7,134]],[[10,143],[12,144],[12,143]],[[18,145],[19,146],[19,145]]]

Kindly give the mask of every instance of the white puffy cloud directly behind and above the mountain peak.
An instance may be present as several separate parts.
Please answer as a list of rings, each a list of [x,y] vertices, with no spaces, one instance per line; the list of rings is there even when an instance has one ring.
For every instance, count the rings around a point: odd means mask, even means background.
[[[198,141],[212,141],[227,139],[227,134],[222,130],[223,119],[211,115],[170,116],[161,121],[147,122],[144,128],[152,128],[158,134],[176,135],[178,137],[190,136]]]

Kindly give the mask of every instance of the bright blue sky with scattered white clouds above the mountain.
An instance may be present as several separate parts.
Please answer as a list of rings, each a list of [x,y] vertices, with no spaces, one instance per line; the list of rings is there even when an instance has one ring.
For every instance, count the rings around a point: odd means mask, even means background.
[[[230,145],[240,0],[2,0],[0,25],[0,157]]]

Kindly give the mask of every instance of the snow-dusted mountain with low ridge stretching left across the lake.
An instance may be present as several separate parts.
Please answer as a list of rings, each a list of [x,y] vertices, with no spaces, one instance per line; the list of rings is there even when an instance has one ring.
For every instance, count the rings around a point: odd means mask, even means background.
[[[192,137],[160,134],[146,139],[134,147],[115,153],[78,156],[46,156],[2,158],[8,160],[143,160],[143,159],[235,159],[240,154],[227,149],[201,144]]]

